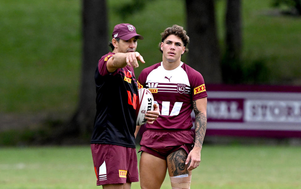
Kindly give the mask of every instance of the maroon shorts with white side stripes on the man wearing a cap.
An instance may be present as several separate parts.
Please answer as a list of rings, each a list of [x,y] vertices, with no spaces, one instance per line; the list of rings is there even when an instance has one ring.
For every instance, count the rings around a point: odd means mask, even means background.
[[[96,185],[138,182],[135,148],[109,144],[91,144]]]

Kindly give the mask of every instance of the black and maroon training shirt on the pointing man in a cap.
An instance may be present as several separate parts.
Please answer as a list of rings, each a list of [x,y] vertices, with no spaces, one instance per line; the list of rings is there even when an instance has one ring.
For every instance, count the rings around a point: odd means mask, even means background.
[[[135,148],[137,81],[133,67],[113,73],[107,61],[114,53],[101,57],[95,71],[96,116],[91,144],[113,144]]]

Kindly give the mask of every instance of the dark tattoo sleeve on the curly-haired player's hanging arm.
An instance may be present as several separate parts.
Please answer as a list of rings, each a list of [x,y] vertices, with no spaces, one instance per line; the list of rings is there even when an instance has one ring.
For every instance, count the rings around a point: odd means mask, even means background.
[[[198,111],[195,100],[192,102],[193,110],[195,113],[195,146],[202,147],[206,129],[207,129],[207,117],[203,112]]]

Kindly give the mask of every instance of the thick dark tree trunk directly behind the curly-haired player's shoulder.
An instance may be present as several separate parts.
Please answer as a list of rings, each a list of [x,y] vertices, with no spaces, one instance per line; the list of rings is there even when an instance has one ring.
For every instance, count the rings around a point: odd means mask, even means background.
[[[205,83],[219,84],[222,76],[214,1],[186,0],[186,10],[190,38],[188,64],[203,75]]]

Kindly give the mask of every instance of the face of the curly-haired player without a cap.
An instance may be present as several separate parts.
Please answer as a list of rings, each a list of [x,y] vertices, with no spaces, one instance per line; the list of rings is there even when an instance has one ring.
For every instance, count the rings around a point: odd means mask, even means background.
[[[181,60],[185,47],[181,38],[178,38],[176,35],[169,35],[161,43],[161,50],[163,51],[163,60],[175,62]]]

